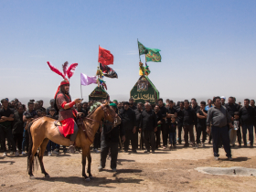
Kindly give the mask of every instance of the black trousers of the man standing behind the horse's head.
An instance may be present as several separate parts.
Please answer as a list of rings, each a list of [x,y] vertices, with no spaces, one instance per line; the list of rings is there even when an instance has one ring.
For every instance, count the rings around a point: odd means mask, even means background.
[[[118,143],[101,141],[101,166],[105,167],[106,158],[111,151],[111,168],[116,168],[116,161],[118,155]]]

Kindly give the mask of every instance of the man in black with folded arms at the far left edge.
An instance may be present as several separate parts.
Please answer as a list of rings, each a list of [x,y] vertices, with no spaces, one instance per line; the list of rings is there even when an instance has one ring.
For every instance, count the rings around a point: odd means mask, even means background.
[[[6,156],[6,145],[5,145],[5,138],[9,144],[12,145],[12,149],[16,152],[16,156],[18,155],[16,151],[16,144],[14,142],[13,134],[12,134],[12,122],[14,121],[14,112],[10,110],[8,107],[8,101],[3,99],[1,100],[3,105],[3,109],[0,110],[0,138],[1,138],[1,145],[4,149],[4,155]]]

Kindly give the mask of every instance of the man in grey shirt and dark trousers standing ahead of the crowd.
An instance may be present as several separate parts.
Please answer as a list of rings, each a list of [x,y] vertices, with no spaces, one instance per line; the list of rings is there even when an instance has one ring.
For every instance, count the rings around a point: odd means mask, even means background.
[[[231,149],[229,144],[229,130],[227,124],[229,124],[229,128],[233,128],[232,123],[230,123],[229,112],[225,107],[221,105],[220,97],[215,97],[214,106],[208,110],[208,118],[207,118],[207,132],[210,133],[210,124],[211,125],[211,133],[213,139],[213,152],[214,158],[219,160],[219,139],[222,139],[222,144],[224,146],[225,152],[229,161],[232,161],[231,157]]]

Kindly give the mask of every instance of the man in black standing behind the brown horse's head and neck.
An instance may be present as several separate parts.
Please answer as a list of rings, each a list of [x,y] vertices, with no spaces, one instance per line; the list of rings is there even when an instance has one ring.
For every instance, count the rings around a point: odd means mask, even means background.
[[[115,103],[110,104],[113,111],[117,112],[117,105]],[[101,133],[101,165],[98,167],[101,171],[106,165],[106,158],[111,152],[111,168],[112,171],[116,171],[116,162],[118,155],[118,143],[119,135],[121,135],[123,142],[125,141],[124,130],[122,124],[117,125],[112,128],[109,123],[103,124],[103,129]]]

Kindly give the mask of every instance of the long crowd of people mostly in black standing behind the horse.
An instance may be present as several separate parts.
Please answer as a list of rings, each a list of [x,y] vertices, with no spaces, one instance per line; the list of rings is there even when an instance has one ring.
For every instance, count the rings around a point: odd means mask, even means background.
[[[87,116],[93,102],[78,103],[76,109]],[[216,159],[219,159],[219,147],[223,146],[231,160],[229,130],[233,129],[236,130],[239,147],[242,139],[244,147],[248,144],[253,147],[253,127],[255,129],[256,126],[254,100],[245,99],[244,106],[236,103],[234,97],[229,97],[227,102],[224,96],[214,97],[213,100],[208,99],[207,102],[200,101],[199,104],[195,98],[177,102],[172,100],[164,102],[163,99],[159,99],[155,104],[151,104],[150,101],[134,103],[133,99],[122,102],[114,100],[110,103],[112,109],[121,117],[122,123],[116,127],[115,131],[106,124],[101,125],[95,134],[93,151],[100,153],[98,150],[101,148],[102,152],[99,170],[103,168],[109,151],[112,151],[112,156],[116,154],[117,157],[118,144],[126,153],[131,144],[132,153],[142,149],[144,153],[149,153],[151,150],[154,154],[160,147],[176,148],[176,145],[182,144],[183,141],[184,147],[189,145],[194,148],[204,147],[208,139],[208,144],[213,141]],[[4,156],[7,155],[6,146],[10,155],[27,154],[29,139],[26,123],[28,120],[42,116],[58,119],[54,100],[49,101],[50,106],[47,109],[43,105],[43,101],[30,100],[25,105],[17,99],[1,100],[0,135]],[[247,130],[250,142],[247,142]],[[182,138],[182,132],[184,138]],[[59,149],[59,144],[48,142],[48,155],[58,155]],[[68,152],[65,146],[63,146],[63,152]],[[116,165],[112,166],[115,168]]]

